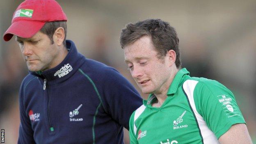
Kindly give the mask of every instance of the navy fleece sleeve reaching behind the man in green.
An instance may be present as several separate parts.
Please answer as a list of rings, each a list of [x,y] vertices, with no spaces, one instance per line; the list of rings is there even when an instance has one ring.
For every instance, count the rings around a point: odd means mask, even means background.
[[[105,71],[103,104],[106,111],[121,126],[129,130],[131,114],[142,105],[137,90],[115,69]]]

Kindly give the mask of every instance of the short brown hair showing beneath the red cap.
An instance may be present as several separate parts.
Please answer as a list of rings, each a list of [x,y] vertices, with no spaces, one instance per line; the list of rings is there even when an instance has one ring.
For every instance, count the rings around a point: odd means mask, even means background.
[[[65,31],[63,45],[66,47],[66,33],[67,33],[66,21],[47,22],[43,25],[40,32],[42,32],[43,34],[46,34],[50,38],[50,40],[53,44],[54,43],[53,34],[54,34],[55,30],[57,30],[57,28],[59,28],[59,27],[63,27],[63,29]]]

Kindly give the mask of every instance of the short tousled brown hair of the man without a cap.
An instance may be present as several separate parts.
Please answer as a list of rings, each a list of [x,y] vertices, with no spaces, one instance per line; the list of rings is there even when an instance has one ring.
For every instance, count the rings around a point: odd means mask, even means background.
[[[174,27],[160,19],[147,19],[138,21],[135,24],[129,23],[121,31],[121,48],[134,43],[143,36],[151,37],[153,45],[158,51],[159,58],[165,56],[169,50],[174,50],[176,53],[176,67],[178,69],[181,68],[179,39]]]

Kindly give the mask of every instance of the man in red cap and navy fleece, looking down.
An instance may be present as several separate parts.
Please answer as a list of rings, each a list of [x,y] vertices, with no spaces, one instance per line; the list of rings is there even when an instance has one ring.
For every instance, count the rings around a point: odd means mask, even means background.
[[[25,0],[3,36],[16,36],[29,70],[18,144],[123,144],[142,99],[115,69],[78,53],[66,21],[55,0]]]

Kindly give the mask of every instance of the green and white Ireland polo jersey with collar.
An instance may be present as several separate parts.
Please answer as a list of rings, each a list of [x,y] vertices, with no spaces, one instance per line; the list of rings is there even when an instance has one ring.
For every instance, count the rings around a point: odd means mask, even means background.
[[[153,94],[130,117],[131,144],[219,144],[235,123],[245,123],[232,92],[215,80],[181,69],[161,107]]]

